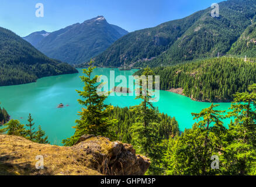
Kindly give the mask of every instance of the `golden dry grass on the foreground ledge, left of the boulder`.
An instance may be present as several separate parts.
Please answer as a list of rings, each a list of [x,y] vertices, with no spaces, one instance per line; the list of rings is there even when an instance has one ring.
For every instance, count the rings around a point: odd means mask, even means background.
[[[36,169],[37,155],[43,155],[44,169]],[[84,156],[82,160],[87,160]],[[37,144],[18,136],[0,135],[0,175],[101,175],[86,167],[79,157],[81,155],[71,147]]]

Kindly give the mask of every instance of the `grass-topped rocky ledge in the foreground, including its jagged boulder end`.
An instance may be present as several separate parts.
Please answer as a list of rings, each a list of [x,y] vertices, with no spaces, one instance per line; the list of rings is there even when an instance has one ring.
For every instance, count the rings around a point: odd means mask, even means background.
[[[37,155],[44,169],[36,169]],[[131,145],[105,137],[82,136],[75,146],[61,147],[0,135],[0,175],[144,175],[149,166]]]

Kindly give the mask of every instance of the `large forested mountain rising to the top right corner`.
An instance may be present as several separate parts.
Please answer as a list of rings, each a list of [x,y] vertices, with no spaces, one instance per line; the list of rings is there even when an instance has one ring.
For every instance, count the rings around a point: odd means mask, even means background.
[[[207,8],[184,19],[129,33],[96,56],[95,64],[154,67],[228,53],[245,29],[254,24],[256,0],[223,1],[219,8],[219,17],[213,18],[212,8]]]

